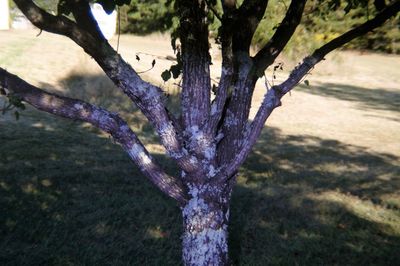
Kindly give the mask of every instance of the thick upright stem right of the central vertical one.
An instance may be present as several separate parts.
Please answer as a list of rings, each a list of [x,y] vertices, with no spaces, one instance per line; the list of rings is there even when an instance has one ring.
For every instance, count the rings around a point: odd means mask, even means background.
[[[233,159],[243,138],[255,83],[251,78],[250,44],[267,4],[267,0],[245,0],[239,9],[226,9],[224,13],[222,74],[211,119],[213,129],[221,126],[224,135],[217,147],[221,165]]]

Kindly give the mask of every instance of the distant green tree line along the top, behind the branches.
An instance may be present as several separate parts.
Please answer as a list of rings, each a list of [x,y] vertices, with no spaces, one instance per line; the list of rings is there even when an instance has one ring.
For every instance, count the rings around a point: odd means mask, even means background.
[[[57,12],[57,0],[36,0],[35,2],[49,11]],[[130,5],[125,5],[119,10],[121,32],[146,35],[153,32],[173,31],[178,25],[174,14],[176,10],[174,2],[174,0],[132,0]],[[219,2],[209,0],[210,6],[222,13]],[[354,5],[357,6],[347,6],[352,1],[309,0],[302,23],[286,46],[285,54],[291,56],[299,52],[311,51],[343,34],[346,29],[372,18],[376,12],[373,8],[374,2],[376,1],[354,1]],[[263,46],[272,36],[289,4],[290,1],[287,0],[269,1],[269,8],[253,37],[254,47]],[[210,30],[217,36],[220,21],[211,10],[209,19],[213,21],[210,24]],[[397,19],[389,21],[373,32],[351,41],[345,48],[400,54],[400,16],[398,15]]]

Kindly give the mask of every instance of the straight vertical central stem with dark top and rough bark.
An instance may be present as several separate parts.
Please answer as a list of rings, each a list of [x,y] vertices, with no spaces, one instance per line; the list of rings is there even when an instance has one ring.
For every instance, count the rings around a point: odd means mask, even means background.
[[[201,128],[210,112],[210,63],[206,4],[179,1],[182,43],[182,115],[185,128]]]

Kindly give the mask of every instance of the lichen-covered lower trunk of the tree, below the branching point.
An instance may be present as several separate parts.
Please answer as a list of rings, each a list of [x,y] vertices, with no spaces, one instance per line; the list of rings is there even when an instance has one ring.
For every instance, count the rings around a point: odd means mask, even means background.
[[[185,265],[228,265],[227,197],[216,187],[191,187],[192,198],[182,209]]]

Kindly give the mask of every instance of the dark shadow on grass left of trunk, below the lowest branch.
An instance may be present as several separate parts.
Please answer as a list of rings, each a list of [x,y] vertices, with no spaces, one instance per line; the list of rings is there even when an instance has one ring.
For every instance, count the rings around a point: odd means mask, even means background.
[[[27,112],[0,117],[0,264],[176,265],[175,202],[97,130]]]

